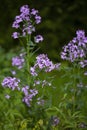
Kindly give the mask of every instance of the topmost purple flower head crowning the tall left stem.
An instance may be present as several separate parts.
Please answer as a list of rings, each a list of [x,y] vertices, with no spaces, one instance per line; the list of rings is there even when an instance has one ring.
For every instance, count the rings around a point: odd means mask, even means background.
[[[20,8],[20,15],[15,17],[15,21],[13,22],[12,27],[16,29],[22,30],[22,32],[14,32],[12,37],[14,39],[19,37],[26,37],[27,35],[31,35],[32,32],[35,32],[35,24],[39,24],[41,22],[41,17],[38,14],[38,10],[30,9],[28,5],[24,5]],[[43,41],[43,37],[41,35],[37,35],[34,38],[35,42]]]

